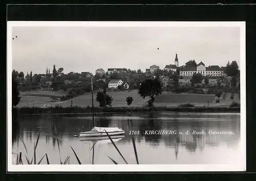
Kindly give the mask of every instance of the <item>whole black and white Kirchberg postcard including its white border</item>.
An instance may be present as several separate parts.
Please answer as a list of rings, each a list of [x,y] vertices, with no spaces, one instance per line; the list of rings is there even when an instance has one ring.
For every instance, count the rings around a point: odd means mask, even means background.
[[[8,171],[246,171],[245,22],[8,21],[7,49]]]

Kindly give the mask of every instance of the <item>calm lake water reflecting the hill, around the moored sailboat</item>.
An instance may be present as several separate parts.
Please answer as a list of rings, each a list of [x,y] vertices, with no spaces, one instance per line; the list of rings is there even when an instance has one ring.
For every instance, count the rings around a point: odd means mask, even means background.
[[[39,132],[36,162],[47,153],[50,164],[60,164],[60,160],[64,162],[67,156],[70,156],[70,164],[78,164],[70,147],[72,146],[82,164],[92,164],[92,160],[94,164],[114,164],[109,157],[118,164],[125,164],[109,139],[95,143],[74,137],[80,131],[89,131],[92,128],[92,115],[18,116],[17,119],[18,123],[13,124],[12,127],[12,151],[22,152],[24,164],[27,164],[26,150],[19,135],[24,140],[28,159],[31,161]],[[101,127],[120,127],[125,130],[122,138],[115,138],[113,141],[128,164],[136,164],[130,131],[139,132],[134,135],[139,164],[242,162],[240,114],[237,113],[142,112],[129,116],[97,114],[95,124]],[[54,131],[54,126],[57,132]],[[177,134],[147,134],[150,130],[176,130]],[[202,134],[202,131],[205,134]],[[216,131],[225,131],[227,134],[218,134]],[[58,142],[51,135],[60,138],[60,153]],[[12,157],[12,162],[15,164],[16,155],[13,154]],[[43,159],[41,164],[47,164],[46,159]]]

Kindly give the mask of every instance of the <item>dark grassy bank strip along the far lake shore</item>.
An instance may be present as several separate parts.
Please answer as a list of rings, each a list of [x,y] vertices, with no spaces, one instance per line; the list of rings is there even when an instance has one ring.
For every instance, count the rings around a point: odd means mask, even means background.
[[[91,113],[92,107],[22,107],[17,109],[20,114],[81,114]],[[180,112],[240,112],[240,106],[236,107],[95,107],[96,112],[150,112],[150,111],[180,111]]]

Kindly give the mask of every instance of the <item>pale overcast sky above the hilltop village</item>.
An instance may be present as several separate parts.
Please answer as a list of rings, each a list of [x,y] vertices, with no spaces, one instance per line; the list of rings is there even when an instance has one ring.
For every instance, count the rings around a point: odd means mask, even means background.
[[[17,36],[17,37],[16,37]],[[164,69],[190,59],[206,66],[240,65],[239,27],[13,27],[12,68],[25,74],[102,68]]]

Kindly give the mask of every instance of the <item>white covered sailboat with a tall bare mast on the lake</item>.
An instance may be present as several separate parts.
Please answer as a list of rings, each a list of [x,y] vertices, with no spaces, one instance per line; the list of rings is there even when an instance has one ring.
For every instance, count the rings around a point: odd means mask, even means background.
[[[124,130],[118,127],[97,127],[94,124],[94,105],[93,105],[93,77],[91,77],[92,84],[92,111],[93,111],[93,128],[90,131],[82,131],[79,133],[79,137],[100,137],[109,135],[122,135]],[[108,132],[108,134],[106,134]]]

